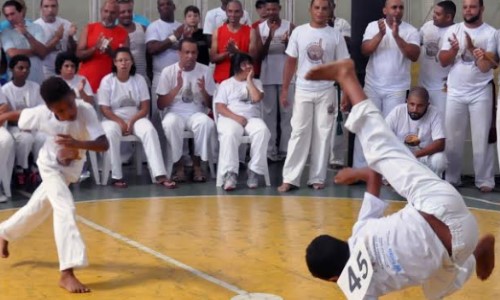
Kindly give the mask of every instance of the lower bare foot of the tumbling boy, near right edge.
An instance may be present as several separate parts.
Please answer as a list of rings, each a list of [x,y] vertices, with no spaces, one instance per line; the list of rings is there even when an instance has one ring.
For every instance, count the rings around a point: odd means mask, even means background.
[[[488,279],[495,268],[495,237],[492,234],[487,234],[479,240],[474,257],[477,277],[481,280]]]

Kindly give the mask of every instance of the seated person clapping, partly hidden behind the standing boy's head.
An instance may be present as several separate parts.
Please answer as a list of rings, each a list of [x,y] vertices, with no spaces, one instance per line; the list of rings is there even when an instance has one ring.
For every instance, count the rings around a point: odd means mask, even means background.
[[[78,65],[80,60],[75,54],[70,52],[61,52],[56,57],[56,74],[64,79],[66,83],[72,88],[76,97],[83,101],[94,105],[94,93],[90,84],[85,76],[76,74],[78,72]]]

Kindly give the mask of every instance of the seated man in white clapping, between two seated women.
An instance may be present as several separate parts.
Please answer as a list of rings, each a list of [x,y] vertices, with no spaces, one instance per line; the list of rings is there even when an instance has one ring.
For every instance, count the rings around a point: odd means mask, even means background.
[[[162,126],[169,146],[167,151],[174,162],[172,179],[178,182],[185,181],[182,162],[184,131],[192,131],[194,135],[194,182],[206,181],[201,160],[209,161],[213,155],[211,145],[216,142],[215,124],[207,115],[207,110],[212,107],[215,83],[208,66],[197,63],[197,57],[196,41],[184,38],[179,44],[179,62],[163,69],[156,91],[158,109],[166,111]]]

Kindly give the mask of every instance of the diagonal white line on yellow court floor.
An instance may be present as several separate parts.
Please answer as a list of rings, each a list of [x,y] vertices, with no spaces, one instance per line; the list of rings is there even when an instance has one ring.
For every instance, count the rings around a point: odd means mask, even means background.
[[[88,227],[90,227],[92,229],[95,229],[95,230],[97,230],[99,232],[107,234],[107,235],[111,236],[112,238],[119,240],[120,242],[123,242],[123,243],[125,243],[125,244],[127,244],[127,245],[129,245],[129,246],[131,246],[133,248],[136,248],[136,249],[138,249],[138,250],[140,250],[142,252],[145,252],[145,253],[150,254],[150,255],[152,255],[152,256],[154,256],[156,258],[159,258],[159,259],[163,260],[164,262],[166,262],[168,264],[174,265],[174,266],[176,266],[176,267],[178,267],[180,269],[188,271],[189,273],[191,273],[191,274],[193,274],[195,276],[198,276],[198,277],[200,277],[202,279],[205,279],[206,281],[209,281],[209,282],[211,282],[213,284],[216,284],[216,285],[218,285],[220,287],[223,287],[223,288],[225,288],[227,290],[230,290],[230,291],[232,291],[232,292],[234,292],[234,293],[236,293],[238,295],[248,294],[247,291],[244,291],[244,290],[240,289],[237,286],[234,286],[234,285],[229,284],[229,283],[227,283],[225,281],[217,279],[217,278],[215,278],[215,277],[213,277],[211,275],[208,275],[207,273],[204,273],[202,271],[196,270],[195,268],[193,268],[191,266],[188,266],[188,265],[186,265],[186,264],[184,264],[184,263],[182,263],[182,262],[180,262],[180,261],[178,261],[178,260],[176,260],[174,258],[171,258],[170,256],[167,256],[167,255],[162,254],[162,253],[160,253],[158,251],[155,251],[155,250],[153,250],[151,248],[148,248],[148,247],[144,246],[143,244],[141,244],[139,242],[131,240],[131,239],[129,239],[129,238],[127,238],[127,237],[125,237],[125,236],[123,236],[123,235],[121,235],[119,233],[116,233],[116,232],[114,232],[114,231],[112,231],[112,230],[110,230],[110,229],[108,229],[106,227],[103,227],[103,226],[98,225],[98,224],[96,224],[96,223],[94,223],[94,222],[92,222],[92,221],[90,221],[88,219],[85,219],[84,217],[77,216],[76,218],[77,218],[78,221],[82,222],[83,224],[87,225]]]

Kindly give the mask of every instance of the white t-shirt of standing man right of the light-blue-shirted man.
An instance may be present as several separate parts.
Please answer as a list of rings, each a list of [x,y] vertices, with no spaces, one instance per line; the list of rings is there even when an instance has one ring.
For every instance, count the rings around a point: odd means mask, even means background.
[[[34,23],[42,27],[47,42],[54,37],[57,29],[59,29],[59,26],[64,26],[63,38],[59,41],[56,49],[50,52],[43,60],[43,69],[45,74],[55,75],[56,56],[57,54],[68,49],[68,32],[71,28],[71,23],[68,20],[59,17],[56,17],[56,20],[53,23],[47,23],[42,18],[37,19]]]

